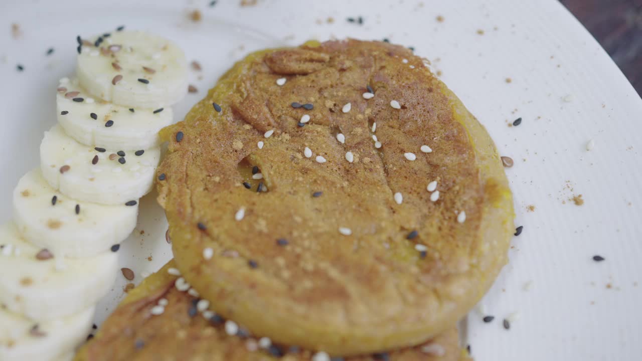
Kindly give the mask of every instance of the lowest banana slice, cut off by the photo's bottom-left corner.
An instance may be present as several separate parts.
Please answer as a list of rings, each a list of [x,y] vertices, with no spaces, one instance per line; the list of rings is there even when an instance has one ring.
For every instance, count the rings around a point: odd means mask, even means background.
[[[50,321],[31,321],[0,308],[0,360],[65,361],[91,331],[94,308]]]

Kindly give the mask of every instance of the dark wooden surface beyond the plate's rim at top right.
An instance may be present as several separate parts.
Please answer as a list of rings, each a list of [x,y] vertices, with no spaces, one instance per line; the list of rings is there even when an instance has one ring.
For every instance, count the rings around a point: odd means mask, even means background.
[[[560,0],[642,94],[642,0]]]

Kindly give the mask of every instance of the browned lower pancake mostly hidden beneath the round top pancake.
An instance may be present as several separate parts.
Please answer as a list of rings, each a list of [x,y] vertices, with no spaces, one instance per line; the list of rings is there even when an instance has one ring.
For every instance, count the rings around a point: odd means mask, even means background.
[[[74,358],[75,361],[259,361],[310,360],[313,353],[285,346],[257,349],[257,339],[228,335],[220,317],[196,310],[198,298],[174,286],[178,276],[168,269],[169,261],[159,272],[144,279],[103,323]],[[164,312],[151,310],[166,299]],[[206,319],[205,317],[210,317]],[[422,351],[422,348],[425,350]],[[280,354],[280,357],[270,355]],[[440,356],[438,356],[438,355]],[[464,361],[467,352],[458,346],[455,328],[427,344],[387,354],[392,361]],[[383,355],[345,358],[345,361],[383,360]],[[341,360],[341,358],[336,358]]]

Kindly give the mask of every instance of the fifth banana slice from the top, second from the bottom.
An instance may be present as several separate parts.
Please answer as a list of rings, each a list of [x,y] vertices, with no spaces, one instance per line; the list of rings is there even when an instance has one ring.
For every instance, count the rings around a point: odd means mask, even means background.
[[[0,225],[0,245],[0,304],[30,319],[56,319],[86,310],[116,279],[116,252],[48,258],[20,238],[13,222]]]

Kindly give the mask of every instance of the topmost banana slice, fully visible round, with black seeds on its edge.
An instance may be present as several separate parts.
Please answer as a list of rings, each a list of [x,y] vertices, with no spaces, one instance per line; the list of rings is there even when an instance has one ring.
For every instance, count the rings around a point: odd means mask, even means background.
[[[187,92],[187,62],[173,42],[143,31],[116,31],[83,46],[76,75],[94,96],[117,105],[159,109]]]

